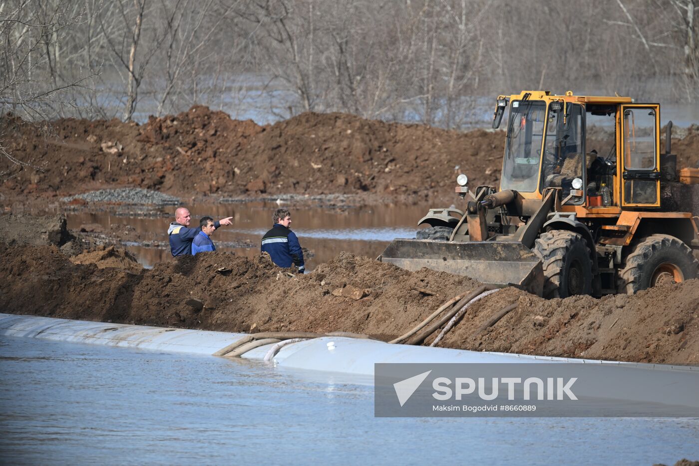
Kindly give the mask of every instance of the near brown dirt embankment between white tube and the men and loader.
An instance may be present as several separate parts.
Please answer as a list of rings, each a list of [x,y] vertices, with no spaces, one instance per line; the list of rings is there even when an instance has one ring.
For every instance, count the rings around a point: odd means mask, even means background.
[[[0,255],[3,312],[231,332],[347,331],[391,339],[479,285],[346,253],[296,276],[264,256],[230,253],[182,257],[150,270],[113,248],[70,259],[55,246],[0,243]],[[439,346],[699,365],[698,285],[550,301],[505,288],[471,306]],[[203,309],[187,304],[191,298]],[[513,311],[479,331],[512,303]]]

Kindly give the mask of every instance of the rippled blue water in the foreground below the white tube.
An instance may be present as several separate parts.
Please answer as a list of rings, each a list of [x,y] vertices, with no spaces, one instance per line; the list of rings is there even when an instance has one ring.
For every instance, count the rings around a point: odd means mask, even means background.
[[[699,421],[375,418],[366,379],[0,337],[2,464],[673,465]]]

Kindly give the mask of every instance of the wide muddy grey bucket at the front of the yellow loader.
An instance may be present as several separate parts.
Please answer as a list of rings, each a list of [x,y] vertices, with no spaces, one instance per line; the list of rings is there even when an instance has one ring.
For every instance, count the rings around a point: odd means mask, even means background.
[[[379,256],[402,269],[423,267],[465,275],[481,283],[512,285],[541,296],[544,272],[539,258],[522,243],[395,239]]]

